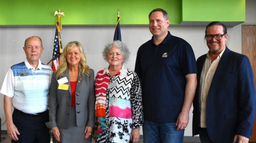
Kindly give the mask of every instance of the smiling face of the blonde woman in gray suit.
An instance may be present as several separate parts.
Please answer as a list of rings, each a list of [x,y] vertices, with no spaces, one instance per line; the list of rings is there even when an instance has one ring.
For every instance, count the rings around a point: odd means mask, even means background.
[[[67,52],[67,62],[69,66],[79,66],[79,62],[81,60],[81,52],[77,46],[72,47]]]

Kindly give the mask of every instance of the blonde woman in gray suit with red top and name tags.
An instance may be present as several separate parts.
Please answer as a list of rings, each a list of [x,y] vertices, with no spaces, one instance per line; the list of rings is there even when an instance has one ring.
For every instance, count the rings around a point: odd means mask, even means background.
[[[69,42],[53,73],[49,93],[46,125],[53,131],[53,142],[91,143],[94,108],[94,71],[86,64],[82,45]]]

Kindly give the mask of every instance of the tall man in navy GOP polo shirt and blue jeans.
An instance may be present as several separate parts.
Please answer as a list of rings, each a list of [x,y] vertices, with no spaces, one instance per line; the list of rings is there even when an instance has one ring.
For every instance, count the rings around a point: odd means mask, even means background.
[[[184,39],[170,34],[165,10],[148,17],[153,37],[139,48],[135,65],[142,83],[143,141],[182,143],[197,85],[195,55]]]

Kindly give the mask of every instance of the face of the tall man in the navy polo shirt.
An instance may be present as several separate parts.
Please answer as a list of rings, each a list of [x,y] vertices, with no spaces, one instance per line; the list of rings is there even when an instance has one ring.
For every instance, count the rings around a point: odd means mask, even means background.
[[[154,37],[166,36],[169,24],[170,20],[163,18],[162,12],[153,12],[149,17],[149,29]]]

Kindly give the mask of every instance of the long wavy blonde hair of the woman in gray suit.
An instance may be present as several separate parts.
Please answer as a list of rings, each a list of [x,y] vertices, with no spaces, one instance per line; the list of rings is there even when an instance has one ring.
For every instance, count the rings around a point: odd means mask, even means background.
[[[65,46],[62,54],[60,55],[60,65],[59,65],[59,68],[55,72],[56,79],[58,79],[61,75],[65,74],[67,72],[68,67],[69,67],[69,63],[67,62],[67,53],[74,46],[77,46],[80,50],[80,53],[81,53],[81,60],[79,62],[79,70],[80,70],[79,76],[81,74],[85,74],[88,77],[90,77],[90,73],[89,73],[88,69],[91,69],[91,68],[86,64],[86,56],[85,56],[85,53],[84,53],[83,46],[78,41],[72,41],[72,42],[69,42]]]

